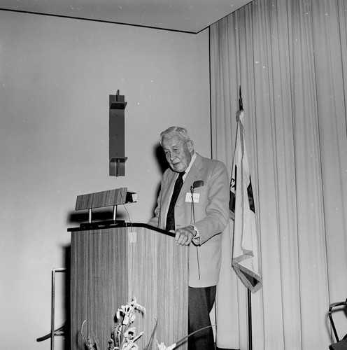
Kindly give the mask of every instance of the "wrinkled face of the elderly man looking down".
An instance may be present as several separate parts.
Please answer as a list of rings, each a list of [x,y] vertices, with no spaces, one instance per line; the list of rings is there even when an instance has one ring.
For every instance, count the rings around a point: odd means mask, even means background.
[[[194,153],[192,141],[184,141],[179,134],[170,134],[162,139],[162,148],[175,172],[184,172],[187,169]]]

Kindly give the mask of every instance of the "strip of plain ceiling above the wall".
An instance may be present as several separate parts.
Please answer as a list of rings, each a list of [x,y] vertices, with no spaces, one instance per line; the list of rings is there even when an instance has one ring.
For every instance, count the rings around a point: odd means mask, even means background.
[[[0,10],[199,33],[251,0],[0,0]]]

